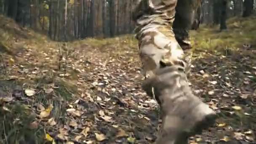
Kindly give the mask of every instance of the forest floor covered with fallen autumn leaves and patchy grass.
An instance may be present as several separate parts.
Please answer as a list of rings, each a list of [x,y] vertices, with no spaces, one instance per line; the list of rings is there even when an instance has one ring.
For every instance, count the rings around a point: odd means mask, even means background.
[[[255,144],[255,23],[191,32],[191,87],[219,118],[190,144]],[[143,79],[131,35],[57,43],[0,16],[0,143],[151,144],[157,105]]]

